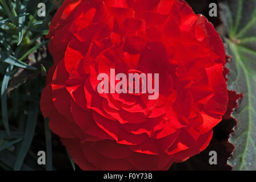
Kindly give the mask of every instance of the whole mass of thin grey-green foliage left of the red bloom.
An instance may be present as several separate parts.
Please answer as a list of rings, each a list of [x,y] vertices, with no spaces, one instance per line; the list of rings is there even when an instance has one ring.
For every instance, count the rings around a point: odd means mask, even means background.
[[[49,13],[57,8],[50,1],[42,1],[46,3],[48,14],[47,18],[38,17],[39,2],[0,0],[0,169],[54,169],[47,122],[45,167],[38,166],[37,155],[31,151],[38,118],[41,118],[38,117],[41,115],[39,100],[45,86],[45,77],[41,77],[41,73],[45,76],[49,65],[53,64],[43,60],[45,47],[49,43],[45,35],[49,32],[52,18]],[[15,89],[10,89],[10,85],[16,82]]]

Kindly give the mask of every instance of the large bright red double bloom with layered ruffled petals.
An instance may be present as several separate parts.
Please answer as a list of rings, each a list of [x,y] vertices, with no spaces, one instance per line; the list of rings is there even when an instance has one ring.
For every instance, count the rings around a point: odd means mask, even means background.
[[[41,98],[85,170],[166,170],[204,150],[228,104],[225,49],[182,0],[66,0]],[[97,92],[99,73],[159,73],[159,97]]]

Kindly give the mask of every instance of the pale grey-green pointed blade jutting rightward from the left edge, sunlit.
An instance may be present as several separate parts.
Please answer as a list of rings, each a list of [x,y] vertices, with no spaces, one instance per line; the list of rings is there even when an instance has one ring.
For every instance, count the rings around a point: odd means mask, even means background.
[[[14,65],[19,68],[26,68],[31,70],[36,70],[37,68],[31,67],[27,65],[26,63],[23,63],[22,61],[16,59],[14,56],[7,55],[7,53],[0,51],[0,61],[3,61],[5,63],[9,63],[11,65]]]

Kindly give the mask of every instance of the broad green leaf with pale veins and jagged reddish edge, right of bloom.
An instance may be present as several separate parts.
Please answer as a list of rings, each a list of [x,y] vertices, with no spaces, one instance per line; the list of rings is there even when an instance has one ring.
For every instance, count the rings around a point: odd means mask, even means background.
[[[256,170],[256,0],[221,3],[221,17],[233,58],[227,82],[230,90],[243,93],[239,108],[232,114],[238,121],[229,142],[235,146],[228,164],[235,170]]]

